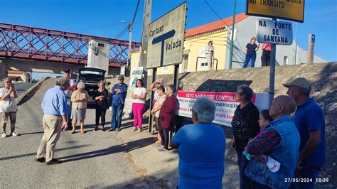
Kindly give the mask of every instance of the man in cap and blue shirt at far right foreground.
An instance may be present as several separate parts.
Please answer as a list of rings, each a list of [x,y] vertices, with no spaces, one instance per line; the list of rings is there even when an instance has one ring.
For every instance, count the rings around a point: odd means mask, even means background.
[[[293,97],[297,110],[294,123],[299,130],[301,144],[294,178],[309,178],[310,182],[291,183],[291,188],[314,188],[318,172],[326,161],[325,121],[321,107],[310,97],[311,84],[304,77],[283,84]]]

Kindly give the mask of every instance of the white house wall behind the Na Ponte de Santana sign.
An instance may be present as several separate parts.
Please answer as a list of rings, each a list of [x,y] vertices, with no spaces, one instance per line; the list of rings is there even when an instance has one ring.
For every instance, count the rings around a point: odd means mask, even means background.
[[[233,47],[233,61],[242,62],[242,63],[232,63],[232,68],[242,68],[243,62],[245,62],[245,47],[247,43],[250,43],[250,39],[256,36],[256,16],[249,16],[244,20],[235,24],[235,39]],[[230,29],[229,29],[230,30]],[[226,68],[229,66],[230,58],[230,39],[231,35],[228,35],[228,50],[226,51]],[[255,61],[255,67],[261,66],[261,55],[262,55],[262,45],[260,49],[257,50],[257,58]],[[287,65],[295,64],[295,55],[297,54],[296,64],[305,64],[307,59],[307,51],[299,48],[297,46],[296,51],[296,42],[293,41],[292,45],[277,45],[276,48],[276,65],[284,65],[284,59],[287,59]],[[287,57],[287,58],[286,58]],[[327,61],[319,56],[314,56],[314,63],[326,63]]]

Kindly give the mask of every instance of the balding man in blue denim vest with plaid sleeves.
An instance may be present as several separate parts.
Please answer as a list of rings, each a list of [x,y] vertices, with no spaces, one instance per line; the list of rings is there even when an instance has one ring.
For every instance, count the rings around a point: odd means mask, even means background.
[[[290,114],[295,112],[294,99],[286,95],[276,97],[269,109],[269,116],[274,119],[266,129],[260,132],[247,145],[246,152],[253,155],[245,170],[249,177],[248,188],[288,188],[294,176],[299,158],[299,131],[297,131]],[[279,170],[272,172],[267,168],[265,156],[278,161]],[[246,156],[247,157],[247,156]]]

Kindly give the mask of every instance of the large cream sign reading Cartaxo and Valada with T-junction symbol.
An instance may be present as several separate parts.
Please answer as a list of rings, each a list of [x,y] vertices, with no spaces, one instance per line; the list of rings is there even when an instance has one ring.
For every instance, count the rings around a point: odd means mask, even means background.
[[[186,2],[150,23],[146,68],[159,68],[183,61]]]

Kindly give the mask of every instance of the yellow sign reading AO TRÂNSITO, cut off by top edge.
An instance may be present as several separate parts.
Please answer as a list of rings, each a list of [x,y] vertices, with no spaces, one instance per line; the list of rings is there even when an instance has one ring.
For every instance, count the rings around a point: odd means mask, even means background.
[[[304,0],[247,0],[246,14],[304,21]]]

